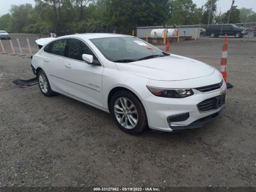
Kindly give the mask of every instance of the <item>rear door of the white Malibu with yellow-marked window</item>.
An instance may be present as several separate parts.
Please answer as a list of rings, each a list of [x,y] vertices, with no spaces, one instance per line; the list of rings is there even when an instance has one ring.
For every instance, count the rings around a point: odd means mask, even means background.
[[[65,66],[68,59],[65,58],[67,52],[68,39],[56,40],[48,44],[44,52],[44,71],[50,81],[50,86],[53,90],[67,93],[66,88],[66,70]]]

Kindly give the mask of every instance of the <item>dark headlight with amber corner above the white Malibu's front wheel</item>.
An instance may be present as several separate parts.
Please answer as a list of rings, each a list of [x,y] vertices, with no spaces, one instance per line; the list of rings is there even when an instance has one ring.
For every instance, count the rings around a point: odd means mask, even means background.
[[[184,98],[194,94],[191,89],[166,89],[147,86],[152,94],[158,97]]]

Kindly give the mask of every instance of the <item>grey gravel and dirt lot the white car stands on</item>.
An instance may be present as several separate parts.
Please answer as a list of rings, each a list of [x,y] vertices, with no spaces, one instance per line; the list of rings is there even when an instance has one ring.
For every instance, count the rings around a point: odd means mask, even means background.
[[[16,36],[37,51],[36,35]],[[219,68],[222,42],[174,42],[171,52]],[[34,77],[27,57],[0,54],[0,76],[0,186],[256,186],[255,41],[228,41],[224,115],[173,133],[131,136],[105,112],[18,88],[13,80]]]

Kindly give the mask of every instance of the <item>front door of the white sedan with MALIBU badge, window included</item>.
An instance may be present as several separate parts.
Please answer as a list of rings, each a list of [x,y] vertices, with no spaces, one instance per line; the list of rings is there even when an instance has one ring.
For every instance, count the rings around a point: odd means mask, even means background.
[[[70,96],[103,107],[102,74],[104,67],[87,64],[82,60],[82,54],[93,55],[90,47],[78,38],[69,39],[68,65],[66,74],[67,91]]]

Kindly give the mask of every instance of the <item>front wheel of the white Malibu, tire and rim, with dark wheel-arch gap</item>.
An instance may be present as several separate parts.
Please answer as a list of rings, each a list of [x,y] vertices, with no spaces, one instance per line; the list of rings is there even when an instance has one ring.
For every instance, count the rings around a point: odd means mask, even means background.
[[[134,94],[125,90],[118,91],[112,96],[110,113],[117,126],[128,134],[140,134],[148,125],[142,103]]]

